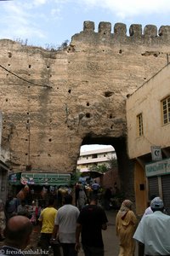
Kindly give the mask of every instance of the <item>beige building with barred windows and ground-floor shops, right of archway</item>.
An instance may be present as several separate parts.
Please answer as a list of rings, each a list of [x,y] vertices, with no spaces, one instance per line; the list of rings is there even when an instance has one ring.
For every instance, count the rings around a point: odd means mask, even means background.
[[[137,213],[159,195],[170,213],[170,65],[127,98],[127,148]]]

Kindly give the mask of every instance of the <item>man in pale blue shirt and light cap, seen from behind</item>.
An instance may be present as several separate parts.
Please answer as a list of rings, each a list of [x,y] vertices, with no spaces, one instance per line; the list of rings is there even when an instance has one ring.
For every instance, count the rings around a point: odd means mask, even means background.
[[[140,221],[133,238],[139,241],[139,256],[170,255],[170,216],[163,213],[164,204],[155,197],[150,207],[152,214]]]

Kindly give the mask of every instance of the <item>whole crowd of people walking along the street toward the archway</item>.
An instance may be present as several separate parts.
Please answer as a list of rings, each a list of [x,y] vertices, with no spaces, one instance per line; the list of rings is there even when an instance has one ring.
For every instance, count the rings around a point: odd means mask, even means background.
[[[82,183],[78,186],[81,198],[76,198],[77,205],[71,193],[67,193],[63,205],[56,207],[56,198],[51,195],[48,205],[39,213],[37,223],[41,227],[41,236],[38,247],[41,248],[41,255],[48,255],[49,247],[53,249],[54,256],[77,256],[81,247],[85,256],[105,255],[102,230],[107,230],[105,207],[108,201],[104,206],[99,204],[99,186],[92,187],[89,195],[85,193]],[[108,200],[111,191],[106,189],[105,194],[108,194]],[[11,253],[23,256],[33,229],[25,201],[21,201],[20,205],[17,205],[16,198],[10,198],[5,205],[0,201],[0,221],[1,239],[4,240],[0,256]],[[170,255],[169,229],[170,216],[165,212],[160,197],[152,196],[150,206],[140,220],[133,211],[133,202],[123,200],[116,213],[118,256],[134,256],[136,242],[139,256]]]

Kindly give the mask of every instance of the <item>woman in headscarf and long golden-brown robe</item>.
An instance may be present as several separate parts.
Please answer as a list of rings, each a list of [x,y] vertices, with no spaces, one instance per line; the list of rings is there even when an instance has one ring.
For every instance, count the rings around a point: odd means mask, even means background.
[[[116,236],[119,237],[119,255],[133,256],[135,251],[135,241],[133,234],[137,226],[137,218],[132,211],[133,202],[125,200],[116,215]]]

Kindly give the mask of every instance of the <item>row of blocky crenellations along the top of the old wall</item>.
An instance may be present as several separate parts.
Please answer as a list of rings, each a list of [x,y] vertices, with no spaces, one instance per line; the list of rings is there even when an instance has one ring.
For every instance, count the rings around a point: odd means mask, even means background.
[[[83,31],[74,35],[72,40],[99,40],[107,38],[105,43],[137,43],[138,44],[169,44],[170,43],[170,26],[161,26],[159,30],[155,25],[146,25],[144,30],[140,24],[132,24],[127,34],[127,26],[123,23],[116,23],[112,28],[111,22],[99,22],[98,32],[95,32],[93,21],[84,21]],[[113,41],[113,42],[112,42]]]

